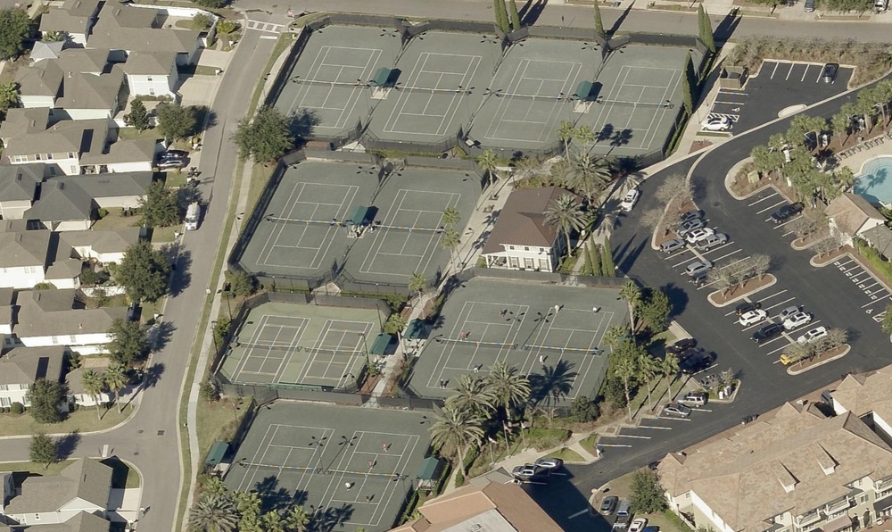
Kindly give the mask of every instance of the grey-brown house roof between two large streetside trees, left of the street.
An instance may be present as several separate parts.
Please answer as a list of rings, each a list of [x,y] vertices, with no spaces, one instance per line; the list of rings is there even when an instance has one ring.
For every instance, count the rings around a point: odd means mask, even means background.
[[[17,323],[20,338],[104,333],[114,320],[127,318],[127,307],[73,309],[76,290],[27,290],[19,293]]]

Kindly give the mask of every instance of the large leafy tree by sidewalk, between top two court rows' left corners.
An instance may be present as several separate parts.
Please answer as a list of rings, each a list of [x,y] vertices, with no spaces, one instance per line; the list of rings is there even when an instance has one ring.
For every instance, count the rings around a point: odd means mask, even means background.
[[[256,162],[274,162],[294,147],[292,119],[275,107],[261,107],[254,117],[238,122],[232,139],[239,156]]]

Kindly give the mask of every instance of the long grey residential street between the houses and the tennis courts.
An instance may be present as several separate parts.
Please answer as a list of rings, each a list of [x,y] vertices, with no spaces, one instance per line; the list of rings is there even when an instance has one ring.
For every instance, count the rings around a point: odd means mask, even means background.
[[[172,324],[169,340],[160,352],[153,354],[150,369],[150,374],[157,378],[149,379],[152,386],[143,392],[142,404],[132,420],[106,434],[84,436],[74,452],[74,456],[97,456],[103,445],[110,445],[112,453],[136,464],[145,481],[141,504],[149,509],[140,522],[140,528],[145,530],[178,529],[174,514],[181,479],[177,427],[180,390],[232,185],[235,149],[229,145],[229,137],[244,116],[254,85],[276,42],[259,37],[260,32],[246,32],[211,106],[216,123],[204,136],[200,167],[203,182],[199,187],[202,195],[211,199],[211,206],[205,212],[201,229],[186,233],[183,240],[173,279],[175,295],[169,298],[163,318],[165,324]],[[4,440],[0,442],[0,455],[4,460],[27,461],[28,446],[28,439]]]

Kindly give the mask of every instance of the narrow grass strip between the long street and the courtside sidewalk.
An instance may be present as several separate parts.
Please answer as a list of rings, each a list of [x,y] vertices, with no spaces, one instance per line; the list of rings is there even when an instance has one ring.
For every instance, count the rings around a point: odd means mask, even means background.
[[[270,56],[264,70],[260,73],[260,83],[257,84],[257,87],[254,88],[254,94],[252,95],[251,102],[248,104],[247,112],[245,112],[245,116],[252,116],[254,110],[257,107],[257,103],[260,101],[260,94],[263,90],[263,79],[267,76],[269,71],[272,70],[273,64],[276,62],[278,55],[282,54],[285,49],[293,42],[293,37],[289,34],[283,34],[279,36],[279,39],[276,43],[276,46],[273,48],[273,54]],[[233,179],[232,187],[234,190],[238,190],[242,186],[242,174],[244,173],[244,161],[241,159],[235,164],[235,179]],[[238,202],[238,194],[231,194],[229,197],[229,203],[227,204],[227,218],[223,225],[223,232],[220,236],[219,248],[217,250],[217,259],[214,261],[214,267],[211,272],[219,272],[219,270],[223,267],[223,263],[226,261],[226,248],[229,242],[229,235],[232,233],[233,222],[235,221],[235,205]],[[211,279],[215,278],[216,275],[212,275]],[[213,303],[213,291],[211,290],[211,294],[207,295],[204,300],[204,305],[202,306],[202,319],[199,321],[197,330],[203,331],[208,328],[208,322],[211,319],[211,304]],[[184,387],[183,399],[179,408],[179,417],[181,420],[186,420],[188,417],[188,408],[189,408],[189,393],[192,390],[191,383],[194,380],[195,371],[197,370],[198,365],[198,357],[202,348],[202,341],[204,339],[203,334],[196,335],[195,341],[192,345],[192,349],[190,353],[192,355],[189,358],[189,367],[186,373],[186,384]],[[209,358],[209,362],[211,359]],[[202,368],[202,372],[205,369]],[[202,408],[202,401],[199,401],[198,408]],[[197,415],[197,414],[196,414]],[[186,513],[186,508],[189,504],[189,485],[192,482],[192,458],[189,450],[189,432],[186,427],[181,427],[179,430],[179,439],[180,444],[183,446],[183,485],[180,490],[179,495],[179,504],[178,504],[178,512],[177,519],[182,520],[183,515]],[[211,438],[212,439],[212,438]],[[202,454],[206,451],[201,451]],[[188,480],[186,480],[188,478]]]

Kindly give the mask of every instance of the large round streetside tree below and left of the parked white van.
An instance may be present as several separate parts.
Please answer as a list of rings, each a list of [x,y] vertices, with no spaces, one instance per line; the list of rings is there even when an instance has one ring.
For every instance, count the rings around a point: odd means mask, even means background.
[[[142,240],[124,252],[114,277],[132,301],[155,301],[167,292],[170,265],[161,251]]]

